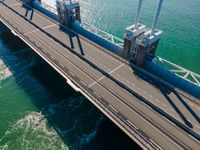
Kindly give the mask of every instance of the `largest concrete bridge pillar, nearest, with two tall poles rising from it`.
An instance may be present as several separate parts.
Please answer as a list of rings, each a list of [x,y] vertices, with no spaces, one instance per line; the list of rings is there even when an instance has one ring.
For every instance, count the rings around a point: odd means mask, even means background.
[[[139,0],[135,24],[126,29],[124,36],[122,57],[128,59],[131,63],[142,66],[146,59],[152,60],[155,57],[162,33],[162,31],[156,29],[162,2],[163,0],[159,1],[152,28],[148,30],[145,25],[138,23],[142,5],[142,0]]]

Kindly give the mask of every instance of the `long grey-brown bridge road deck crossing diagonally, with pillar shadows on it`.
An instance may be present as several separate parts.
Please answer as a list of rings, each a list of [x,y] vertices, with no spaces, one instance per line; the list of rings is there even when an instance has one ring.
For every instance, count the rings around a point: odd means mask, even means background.
[[[199,86],[191,95],[31,6],[1,0],[0,21],[131,139],[143,149],[199,149]]]

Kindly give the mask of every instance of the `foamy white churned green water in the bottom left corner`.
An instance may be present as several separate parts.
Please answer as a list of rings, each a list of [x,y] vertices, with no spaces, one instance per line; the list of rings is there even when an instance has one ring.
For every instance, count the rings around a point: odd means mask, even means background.
[[[32,112],[18,120],[0,139],[1,150],[68,150],[44,115]]]

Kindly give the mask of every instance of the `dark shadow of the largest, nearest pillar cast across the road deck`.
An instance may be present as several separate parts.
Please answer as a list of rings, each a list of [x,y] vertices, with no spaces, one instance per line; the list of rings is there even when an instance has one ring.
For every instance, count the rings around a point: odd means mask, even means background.
[[[155,86],[156,88],[158,88],[160,90],[160,92],[162,93],[162,95],[165,98],[165,100],[172,106],[172,108],[179,115],[179,117],[182,119],[182,121],[184,122],[184,124],[187,127],[193,128],[193,125],[189,121],[188,116],[185,116],[183,114],[183,112],[178,108],[178,106],[176,105],[175,101],[180,102],[186,108],[186,110],[196,119],[196,121],[198,123],[200,123],[199,116],[192,110],[192,108],[187,104],[187,102],[185,100],[183,100],[181,95],[175,89],[173,89],[172,87],[166,85],[165,83],[162,83],[158,79],[155,79],[151,75],[139,70],[138,68],[136,68],[134,66],[132,66],[132,69],[133,69],[133,73],[136,76],[138,76],[139,78],[145,80],[146,82],[148,82],[149,84]],[[175,97],[175,99],[172,99],[170,97],[170,95],[173,95],[173,97]],[[165,113],[163,110],[160,110],[159,108],[158,109],[155,108],[155,110],[157,110],[159,112],[163,112],[163,114],[165,116],[169,116],[167,113]]]

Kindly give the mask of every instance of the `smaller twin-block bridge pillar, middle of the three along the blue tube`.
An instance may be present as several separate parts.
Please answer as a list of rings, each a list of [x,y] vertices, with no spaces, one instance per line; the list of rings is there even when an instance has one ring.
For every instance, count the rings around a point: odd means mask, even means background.
[[[70,27],[71,22],[81,22],[80,5],[76,0],[56,0],[59,22]]]

